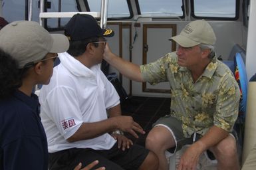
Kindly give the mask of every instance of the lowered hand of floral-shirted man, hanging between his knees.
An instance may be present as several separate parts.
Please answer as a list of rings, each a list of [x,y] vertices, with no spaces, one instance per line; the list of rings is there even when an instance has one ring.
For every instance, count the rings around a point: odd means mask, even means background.
[[[182,157],[180,158],[178,170],[184,169],[196,169],[197,163],[199,161],[199,156],[202,153],[202,149],[198,147],[198,143],[193,143],[186,149]]]

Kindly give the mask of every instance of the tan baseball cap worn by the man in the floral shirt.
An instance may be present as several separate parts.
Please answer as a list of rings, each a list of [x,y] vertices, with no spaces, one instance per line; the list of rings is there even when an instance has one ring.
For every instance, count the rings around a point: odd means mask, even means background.
[[[192,21],[184,29],[180,35],[176,35],[169,39],[176,41],[180,46],[191,47],[197,44],[215,44],[216,37],[211,25],[205,20]]]

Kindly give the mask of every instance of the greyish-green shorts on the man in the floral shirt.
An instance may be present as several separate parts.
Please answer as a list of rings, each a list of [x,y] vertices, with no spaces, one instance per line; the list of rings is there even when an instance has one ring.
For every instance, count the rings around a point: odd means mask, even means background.
[[[174,137],[174,141],[176,143],[176,146],[168,149],[170,153],[175,153],[176,151],[182,149],[184,145],[189,145],[193,143],[193,135],[190,138],[184,137],[183,130],[182,130],[182,122],[180,120],[167,115],[162,118],[160,118],[156,123],[153,124],[154,126],[164,126],[167,129],[169,129],[170,133],[172,133],[172,136]],[[201,135],[199,133],[195,133],[195,141],[201,138]]]

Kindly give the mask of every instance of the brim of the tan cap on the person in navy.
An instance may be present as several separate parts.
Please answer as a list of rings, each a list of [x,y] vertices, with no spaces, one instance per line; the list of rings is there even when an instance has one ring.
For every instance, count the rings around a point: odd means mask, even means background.
[[[65,52],[69,48],[68,38],[61,34],[51,34],[53,38],[53,47],[49,52],[52,53],[61,53]]]

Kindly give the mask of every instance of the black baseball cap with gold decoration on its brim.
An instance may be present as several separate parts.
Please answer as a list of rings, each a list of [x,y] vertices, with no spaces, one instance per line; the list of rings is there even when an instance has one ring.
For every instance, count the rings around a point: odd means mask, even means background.
[[[113,37],[111,29],[101,29],[92,15],[76,14],[64,27],[64,35],[70,41],[82,41],[95,37]]]

